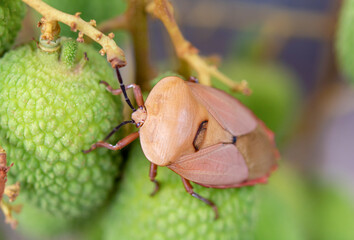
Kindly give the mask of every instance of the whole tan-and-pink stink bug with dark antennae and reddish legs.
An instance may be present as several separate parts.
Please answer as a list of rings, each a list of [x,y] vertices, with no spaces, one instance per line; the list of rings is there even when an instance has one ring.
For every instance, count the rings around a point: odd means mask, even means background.
[[[139,86],[133,88],[138,109],[134,109],[125,92],[116,68],[121,89],[107,90],[114,95],[123,93],[133,109],[132,120],[118,125],[97,147],[122,149],[140,136],[142,150],[151,162],[150,180],[155,183],[157,166],[166,166],[181,176],[186,191],[213,207],[216,205],[193,191],[190,181],[211,188],[236,188],[265,183],[277,166],[278,151],[273,133],[249,109],[225,92],[200,85],[195,80],[178,77],[160,80],[144,100]],[[127,123],[135,124],[138,132],[116,145],[105,142]]]

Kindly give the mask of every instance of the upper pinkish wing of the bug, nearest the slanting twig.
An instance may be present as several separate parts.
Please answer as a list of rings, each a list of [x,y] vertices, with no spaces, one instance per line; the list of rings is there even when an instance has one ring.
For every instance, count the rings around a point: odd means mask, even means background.
[[[188,85],[197,100],[232,135],[244,135],[256,128],[257,120],[253,113],[237,99],[215,88],[197,83]]]

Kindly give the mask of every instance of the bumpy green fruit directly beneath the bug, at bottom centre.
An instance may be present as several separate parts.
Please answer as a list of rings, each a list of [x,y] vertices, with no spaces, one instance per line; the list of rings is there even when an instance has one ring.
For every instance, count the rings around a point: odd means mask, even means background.
[[[190,196],[181,178],[158,168],[160,191],[148,177],[149,161],[140,144],[133,146],[119,194],[105,219],[105,240],[117,239],[252,239],[256,218],[254,187],[212,189],[193,184],[195,192],[216,203],[220,218],[202,201]]]

